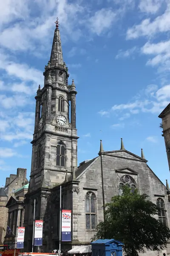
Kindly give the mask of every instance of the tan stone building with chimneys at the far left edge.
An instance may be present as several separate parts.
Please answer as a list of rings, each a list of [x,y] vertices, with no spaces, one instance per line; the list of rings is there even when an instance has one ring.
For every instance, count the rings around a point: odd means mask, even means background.
[[[5,187],[0,189],[4,195],[0,196],[0,241],[2,242],[2,244],[4,241],[4,237],[6,236],[8,219],[8,208],[6,208],[6,204],[9,198],[11,198],[11,196],[14,196],[14,193],[17,189],[28,183],[28,180],[26,178],[26,171],[26,169],[18,168],[17,174],[11,174],[10,177],[7,177]]]

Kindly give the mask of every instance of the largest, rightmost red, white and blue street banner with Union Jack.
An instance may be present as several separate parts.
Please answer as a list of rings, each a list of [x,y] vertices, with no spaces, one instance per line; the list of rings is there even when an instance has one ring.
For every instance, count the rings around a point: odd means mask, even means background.
[[[62,210],[62,241],[71,241],[71,210]]]

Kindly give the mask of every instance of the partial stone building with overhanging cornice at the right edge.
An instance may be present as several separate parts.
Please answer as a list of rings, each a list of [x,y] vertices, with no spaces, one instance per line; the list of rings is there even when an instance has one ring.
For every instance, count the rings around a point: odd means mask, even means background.
[[[170,170],[170,104],[160,113],[159,118],[162,119],[163,134],[165,147],[167,151],[167,160]]]

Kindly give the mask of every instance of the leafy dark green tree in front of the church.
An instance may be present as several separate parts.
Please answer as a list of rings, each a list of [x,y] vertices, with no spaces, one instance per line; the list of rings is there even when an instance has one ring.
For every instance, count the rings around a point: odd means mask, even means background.
[[[124,243],[126,256],[138,256],[144,247],[166,247],[170,230],[153,217],[158,214],[158,207],[147,198],[146,194],[139,195],[137,189],[132,192],[124,186],[122,195],[114,196],[105,205],[105,220],[97,225],[92,240],[117,239]]]

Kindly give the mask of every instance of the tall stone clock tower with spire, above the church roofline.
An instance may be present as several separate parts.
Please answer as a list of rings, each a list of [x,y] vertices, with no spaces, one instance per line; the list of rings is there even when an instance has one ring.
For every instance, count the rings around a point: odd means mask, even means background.
[[[44,87],[37,90],[29,192],[62,183],[77,167],[76,87],[68,85],[58,19]]]

